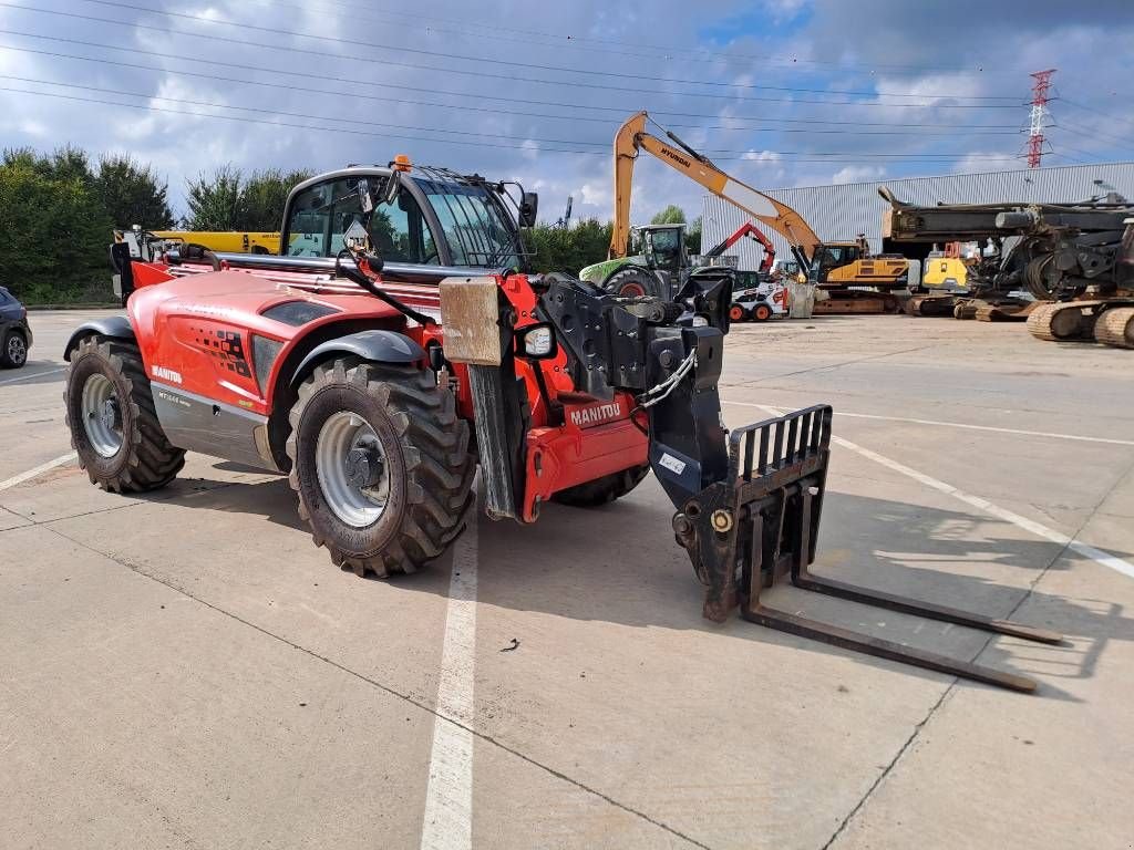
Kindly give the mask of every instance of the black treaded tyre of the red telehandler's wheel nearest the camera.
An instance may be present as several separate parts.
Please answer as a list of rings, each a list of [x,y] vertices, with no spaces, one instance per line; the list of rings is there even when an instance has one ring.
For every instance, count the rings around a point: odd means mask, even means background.
[[[352,413],[376,435],[383,454],[387,501],[375,520],[350,525],[328,504],[316,467],[319,436],[328,420]],[[475,459],[468,423],[434,373],[412,366],[337,359],[315,368],[299,386],[290,414],[289,481],[299,516],[315,545],[358,576],[414,572],[464,529],[472,503]]]

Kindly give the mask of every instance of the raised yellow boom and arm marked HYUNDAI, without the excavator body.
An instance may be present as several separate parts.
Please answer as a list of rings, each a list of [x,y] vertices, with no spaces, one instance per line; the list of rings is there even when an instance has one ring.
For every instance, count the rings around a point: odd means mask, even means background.
[[[672,144],[650,135],[645,131],[648,118],[646,112],[638,112],[627,120],[615,136],[615,227],[610,237],[608,258],[626,256],[626,245],[631,235],[634,161],[638,152],[644,150],[691,180],[701,184],[717,197],[723,198],[754,220],[770,227],[787,239],[793,254],[804,267],[811,265],[815,248],[821,243],[799,213],[725,173],[672,133],[666,131]]]

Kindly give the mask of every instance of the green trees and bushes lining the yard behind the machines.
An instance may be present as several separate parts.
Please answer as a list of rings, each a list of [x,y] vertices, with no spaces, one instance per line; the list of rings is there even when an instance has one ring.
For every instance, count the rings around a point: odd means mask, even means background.
[[[113,228],[274,231],[291,187],[312,171],[223,165],[186,182],[186,212],[175,218],[169,185],[128,155],[98,160],[75,147],[44,154],[31,148],[0,155],[0,286],[26,304],[110,301],[109,244]],[[684,222],[669,206],[653,223]],[[577,272],[604,260],[612,226],[584,219],[539,224],[528,235],[535,271]],[[701,220],[689,227],[689,249]]]

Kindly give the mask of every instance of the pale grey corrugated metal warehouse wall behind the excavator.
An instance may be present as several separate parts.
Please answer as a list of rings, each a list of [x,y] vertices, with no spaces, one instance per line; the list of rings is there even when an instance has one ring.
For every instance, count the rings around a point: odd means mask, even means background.
[[[737,177],[744,179],[743,173]],[[1102,186],[1095,180],[1101,180]],[[847,241],[865,233],[871,249],[881,250],[882,211],[887,204],[878,195],[879,186],[890,187],[899,201],[920,205],[1069,203],[1105,194],[1111,188],[1134,198],[1134,162],[807,186],[770,189],[767,194],[797,210],[824,241]],[[702,215],[703,249],[727,238],[747,220],[739,210],[714,195],[704,196]],[[784,238],[770,229],[767,232],[778,255],[789,258],[792,253]],[[752,270],[759,266],[763,249],[752,239],[744,239],[726,253],[739,256],[741,269]]]

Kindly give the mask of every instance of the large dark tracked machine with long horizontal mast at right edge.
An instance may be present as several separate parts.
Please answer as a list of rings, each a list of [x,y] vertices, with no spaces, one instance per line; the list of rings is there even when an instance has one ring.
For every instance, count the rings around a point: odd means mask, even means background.
[[[1134,348],[1134,205],[1120,196],[914,206],[880,193],[890,204],[886,244],[912,254],[934,243],[981,246],[965,296],[915,296],[911,313],[1026,321],[1038,339]]]

